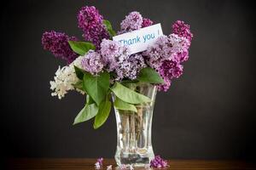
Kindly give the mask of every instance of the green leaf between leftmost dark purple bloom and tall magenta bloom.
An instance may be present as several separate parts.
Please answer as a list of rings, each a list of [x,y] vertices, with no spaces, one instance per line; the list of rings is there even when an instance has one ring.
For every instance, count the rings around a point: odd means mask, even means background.
[[[79,55],[86,54],[90,49],[96,49],[95,46],[90,42],[68,41],[68,43],[72,50]]]

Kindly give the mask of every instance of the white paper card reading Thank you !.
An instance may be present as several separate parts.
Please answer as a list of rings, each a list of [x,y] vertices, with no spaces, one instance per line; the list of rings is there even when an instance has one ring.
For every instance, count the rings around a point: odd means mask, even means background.
[[[160,24],[148,26],[137,31],[127,32],[113,37],[113,41],[121,42],[129,46],[131,54],[145,51],[149,45],[152,45],[155,40],[163,35]]]

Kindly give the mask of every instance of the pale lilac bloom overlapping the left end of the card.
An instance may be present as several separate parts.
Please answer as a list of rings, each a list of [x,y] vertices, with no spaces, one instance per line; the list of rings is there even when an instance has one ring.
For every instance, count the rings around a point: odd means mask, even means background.
[[[130,51],[120,42],[103,39],[100,52],[107,65],[108,71],[115,70],[120,64],[128,59]]]

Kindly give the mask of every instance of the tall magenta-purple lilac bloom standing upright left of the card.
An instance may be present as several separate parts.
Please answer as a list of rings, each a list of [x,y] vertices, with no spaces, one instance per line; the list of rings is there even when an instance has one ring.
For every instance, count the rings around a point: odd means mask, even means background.
[[[103,17],[94,7],[82,7],[78,14],[79,28],[84,31],[85,41],[93,42],[96,48],[99,47],[103,38],[109,38],[106,26],[103,24]]]

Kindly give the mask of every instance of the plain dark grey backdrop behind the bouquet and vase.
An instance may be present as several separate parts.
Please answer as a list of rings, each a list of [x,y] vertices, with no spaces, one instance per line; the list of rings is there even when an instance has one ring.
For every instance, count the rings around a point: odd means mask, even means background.
[[[184,74],[154,109],[154,152],[165,158],[253,159],[256,151],[255,18],[245,1],[9,1],[2,7],[2,152],[15,157],[113,157],[114,114],[98,130],[73,126],[84,97],[50,96],[59,59],[41,47],[44,31],[81,38],[76,15],[95,5],[115,30],[140,11],[169,34],[185,20],[195,37]]]

